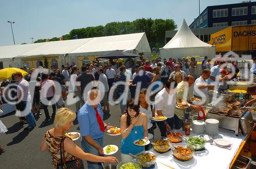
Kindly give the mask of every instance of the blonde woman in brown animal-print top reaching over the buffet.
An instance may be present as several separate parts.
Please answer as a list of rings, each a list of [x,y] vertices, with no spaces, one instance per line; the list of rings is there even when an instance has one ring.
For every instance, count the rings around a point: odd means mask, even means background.
[[[85,153],[80,149],[74,141],[70,138],[65,138],[65,131],[69,131],[74,125],[73,121],[76,118],[76,113],[68,108],[60,108],[55,115],[54,128],[51,128],[46,132],[42,139],[40,151],[44,152],[48,150],[52,156],[52,164],[55,168],[61,164],[60,160],[60,147],[63,140],[64,154],[66,163],[74,160],[76,157],[82,160],[89,160],[93,162],[107,162],[115,163],[117,159],[115,157],[101,157],[90,153]]]

